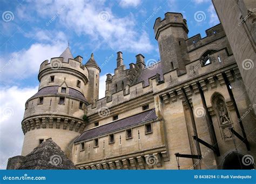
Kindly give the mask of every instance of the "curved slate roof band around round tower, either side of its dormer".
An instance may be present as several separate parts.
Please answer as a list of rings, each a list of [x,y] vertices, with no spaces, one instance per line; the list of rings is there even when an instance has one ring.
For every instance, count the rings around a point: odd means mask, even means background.
[[[36,97],[36,96],[43,95],[43,94],[57,94],[58,93],[58,87],[59,86],[44,87],[41,90],[39,90],[32,97]],[[82,93],[80,93],[79,91],[77,91],[73,88],[69,88],[69,95],[70,95],[70,97],[74,97],[74,98],[78,98],[78,99],[83,100],[83,101],[87,101]]]

